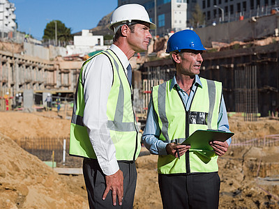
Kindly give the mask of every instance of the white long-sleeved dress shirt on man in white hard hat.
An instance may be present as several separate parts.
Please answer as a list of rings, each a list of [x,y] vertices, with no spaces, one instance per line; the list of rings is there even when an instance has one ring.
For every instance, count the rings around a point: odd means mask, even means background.
[[[119,57],[123,68],[129,65],[128,58],[119,47],[111,45],[110,49]],[[126,70],[127,71],[127,70]],[[127,74],[127,72],[126,72]],[[113,82],[113,70],[110,60],[100,54],[84,65],[84,117],[89,139],[96,153],[100,168],[109,176],[119,170],[116,150],[107,128],[107,99]]]

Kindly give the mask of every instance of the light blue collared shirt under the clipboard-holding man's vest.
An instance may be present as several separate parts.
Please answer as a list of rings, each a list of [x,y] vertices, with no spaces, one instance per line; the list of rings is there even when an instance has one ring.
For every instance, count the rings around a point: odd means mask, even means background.
[[[202,82],[199,79],[198,75],[195,75],[195,83],[190,91],[190,95],[188,95],[183,89],[179,87],[179,84],[176,82],[175,75],[172,79],[172,84],[170,88],[174,88],[174,86],[178,87],[179,95],[183,99],[183,103],[186,106],[186,110],[188,111],[190,108],[191,101],[193,100],[193,96],[195,91],[197,90],[197,86],[202,86]],[[225,101],[222,95],[222,100],[220,104],[220,112],[218,116],[218,130],[222,130],[225,132],[229,132],[229,121],[227,120],[227,110],[225,106]],[[167,155],[167,150],[165,149],[167,143],[162,140],[159,140],[160,136],[160,127],[158,124],[158,116],[153,107],[152,97],[149,102],[149,110],[147,113],[146,125],[144,128],[144,133],[142,134],[142,141],[144,142],[144,146],[155,155]],[[227,144],[231,144],[232,139],[227,139]]]

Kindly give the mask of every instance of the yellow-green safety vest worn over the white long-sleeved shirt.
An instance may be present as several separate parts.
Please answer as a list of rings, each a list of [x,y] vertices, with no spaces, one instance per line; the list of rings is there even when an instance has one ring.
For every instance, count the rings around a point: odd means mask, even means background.
[[[113,84],[107,100],[107,128],[110,130],[110,137],[116,148],[117,160],[136,160],[140,154],[140,140],[137,139],[137,122],[132,104],[132,88],[128,83],[123,65],[119,58],[107,49],[96,54],[105,54],[110,59],[113,70]],[[84,65],[93,57],[84,62],[80,70],[73,116],[70,124],[70,155],[89,157],[96,159],[96,154],[91,145],[86,127],[82,123],[84,114],[84,84],[82,75]],[[93,110],[94,111],[94,110]]]

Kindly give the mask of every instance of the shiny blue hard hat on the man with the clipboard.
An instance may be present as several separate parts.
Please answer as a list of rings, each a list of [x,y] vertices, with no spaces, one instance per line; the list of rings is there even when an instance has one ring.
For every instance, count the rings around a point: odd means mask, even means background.
[[[183,30],[174,33],[167,41],[166,53],[181,51],[181,49],[206,50],[197,33],[192,30]]]

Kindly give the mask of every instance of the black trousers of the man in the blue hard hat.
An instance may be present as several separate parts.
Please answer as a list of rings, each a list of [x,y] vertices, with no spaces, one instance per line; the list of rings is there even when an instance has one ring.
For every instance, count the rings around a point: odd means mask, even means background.
[[[218,208],[220,177],[215,173],[158,175],[164,209]]]

